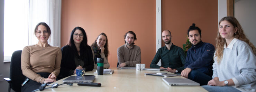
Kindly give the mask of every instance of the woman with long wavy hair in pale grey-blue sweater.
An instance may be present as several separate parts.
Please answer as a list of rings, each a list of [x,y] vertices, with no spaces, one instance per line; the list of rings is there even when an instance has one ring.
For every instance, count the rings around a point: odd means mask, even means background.
[[[213,79],[202,87],[209,92],[255,92],[256,49],[235,17],[220,20],[216,40]]]

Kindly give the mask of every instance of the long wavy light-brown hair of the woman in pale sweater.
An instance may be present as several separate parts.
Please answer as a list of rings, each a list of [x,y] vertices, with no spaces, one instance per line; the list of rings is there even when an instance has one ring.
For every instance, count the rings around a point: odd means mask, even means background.
[[[235,38],[239,39],[239,40],[242,40],[242,41],[246,42],[253,49],[253,53],[256,54],[256,48],[249,41],[249,39],[245,36],[244,30],[241,27],[241,25],[239,24],[239,22],[237,21],[237,19],[235,17],[228,16],[228,17],[222,18],[220,20],[220,22],[222,22],[224,20],[226,20],[229,23],[231,23],[234,26],[234,28],[237,28],[237,32],[234,33],[233,36]],[[220,25],[220,22],[219,22],[219,25]],[[217,57],[217,62],[218,63],[220,63],[220,61],[221,61],[221,59],[223,57],[224,44],[226,44],[226,40],[220,36],[219,30],[218,30],[217,37],[216,37],[216,53],[215,53],[215,57]]]

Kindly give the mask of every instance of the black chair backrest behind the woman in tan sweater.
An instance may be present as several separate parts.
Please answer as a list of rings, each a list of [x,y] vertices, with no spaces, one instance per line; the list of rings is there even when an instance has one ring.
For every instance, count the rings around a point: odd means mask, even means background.
[[[11,89],[15,92],[21,91],[21,84],[25,80],[25,76],[21,71],[21,52],[22,50],[17,50],[12,53],[11,56],[11,66],[10,66],[10,79],[12,80]]]

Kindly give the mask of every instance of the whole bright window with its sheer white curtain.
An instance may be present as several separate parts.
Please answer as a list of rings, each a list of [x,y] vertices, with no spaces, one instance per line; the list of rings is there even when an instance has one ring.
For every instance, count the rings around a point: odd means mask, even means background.
[[[60,47],[61,0],[4,1],[4,61],[16,50],[38,43],[35,26],[45,22],[51,28],[48,44]]]

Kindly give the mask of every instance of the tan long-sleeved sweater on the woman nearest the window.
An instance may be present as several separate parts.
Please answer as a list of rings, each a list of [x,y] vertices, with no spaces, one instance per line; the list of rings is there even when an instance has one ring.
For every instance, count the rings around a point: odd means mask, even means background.
[[[60,73],[61,49],[56,46],[40,47],[30,45],[24,47],[21,53],[21,70],[29,79],[39,82],[42,78],[40,72]],[[41,80],[43,82],[45,78]]]

